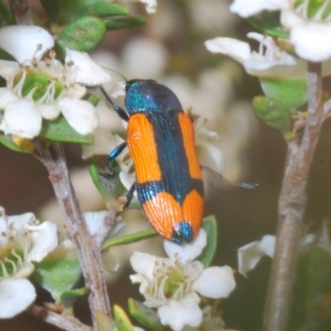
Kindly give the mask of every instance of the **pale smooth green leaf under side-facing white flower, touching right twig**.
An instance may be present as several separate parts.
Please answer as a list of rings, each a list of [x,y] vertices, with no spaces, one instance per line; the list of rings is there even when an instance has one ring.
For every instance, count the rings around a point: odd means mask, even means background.
[[[265,95],[280,102],[291,114],[307,103],[307,81],[297,78],[260,78]]]

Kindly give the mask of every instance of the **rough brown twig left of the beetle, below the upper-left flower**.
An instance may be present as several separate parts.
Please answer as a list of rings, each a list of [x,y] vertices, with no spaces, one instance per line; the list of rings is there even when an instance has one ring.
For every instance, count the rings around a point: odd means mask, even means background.
[[[72,241],[77,247],[85,285],[90,290],[88,301],[94,330],[97,330],[97,313],[103,313],[111,319],[110,305],[100,258],[100,247],[92,239],[86,228],[85,221],[72,188],[61,145],[57,142],[53,143],[54,158],[50,150],[43,146],[41,140],[36,141],[36,148],[39,153],[36,158],[46,167],[50,173],[49,178],[68,226]]]

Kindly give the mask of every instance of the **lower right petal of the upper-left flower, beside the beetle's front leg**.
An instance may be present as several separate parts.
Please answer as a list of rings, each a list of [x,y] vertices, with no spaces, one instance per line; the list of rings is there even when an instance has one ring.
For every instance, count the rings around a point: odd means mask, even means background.
[[[92,134],[97,127],[97,111],[88,102],[64,97],[58,100],[57,105],[68,124],[78,134]]]

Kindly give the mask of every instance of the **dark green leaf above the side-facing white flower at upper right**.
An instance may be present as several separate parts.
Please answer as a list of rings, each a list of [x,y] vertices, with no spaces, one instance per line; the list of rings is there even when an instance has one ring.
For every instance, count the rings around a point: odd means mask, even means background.
[[[288,39],[288,31],[280,23],[279,11],[263,11],[254,17],[247,18],[247,21],[257,30],[271,36]]]

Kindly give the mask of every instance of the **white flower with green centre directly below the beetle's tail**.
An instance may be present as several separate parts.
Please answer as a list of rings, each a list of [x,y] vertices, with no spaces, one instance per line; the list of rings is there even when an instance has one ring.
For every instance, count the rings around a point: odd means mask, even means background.
[[[190,244],[179,246],[164,241],[169,258],[142,253],[135,253],[130,258],[134,270],[138,273],[130,278],[132,282],[140,282],[145,305],[158,308],[161,323],[172,330],[201,324],[200,296],[226,298],[235,287],[233,270],[228,266],[204,269],[199,260],[193,260],[205,244],[206,234],[201,229]]]

